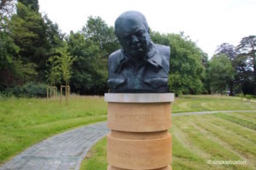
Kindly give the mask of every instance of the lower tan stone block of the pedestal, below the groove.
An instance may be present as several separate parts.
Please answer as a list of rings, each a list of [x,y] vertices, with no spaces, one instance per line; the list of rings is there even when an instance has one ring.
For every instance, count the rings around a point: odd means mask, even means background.
[[[124,169],[157,169],[172,161],[172,137],[117,139],[108,134],[108,163]]]

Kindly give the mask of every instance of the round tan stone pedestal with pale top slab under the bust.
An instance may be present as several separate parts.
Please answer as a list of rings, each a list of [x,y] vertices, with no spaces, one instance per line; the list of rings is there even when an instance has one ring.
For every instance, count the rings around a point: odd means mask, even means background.
[[[108,170],[171,170],[173,94],[105,94]]]

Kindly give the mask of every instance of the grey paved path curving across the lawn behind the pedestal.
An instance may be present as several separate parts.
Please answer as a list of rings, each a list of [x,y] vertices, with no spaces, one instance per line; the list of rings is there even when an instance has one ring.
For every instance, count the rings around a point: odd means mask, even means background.
[[[200,111],[172,114],[172,116],[214,114],[218,112],[256,111]],[[15,156],[14,159],[0,167],[0,170],[78,170],[90,147],[108,132],[107,122],[99,122],[55,135]]]

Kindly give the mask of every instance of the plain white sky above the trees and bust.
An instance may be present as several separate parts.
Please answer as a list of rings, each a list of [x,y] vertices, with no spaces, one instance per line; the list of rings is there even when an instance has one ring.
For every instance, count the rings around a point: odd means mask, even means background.
[[[238,45],[256,35],[256,0],[39,0],[61,31],[79,31],[88,16],[100,16],[108,26],[127,10],[143,13],[153,31],[179,33],[197,42],[209,57],[223,42]]]

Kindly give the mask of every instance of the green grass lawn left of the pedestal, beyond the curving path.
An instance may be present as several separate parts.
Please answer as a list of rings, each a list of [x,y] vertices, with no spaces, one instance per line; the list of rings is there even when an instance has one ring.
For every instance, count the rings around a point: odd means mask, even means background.
[[[107,120],[102,97],[0,99],[0,164],[32,144],[73,127]]]

